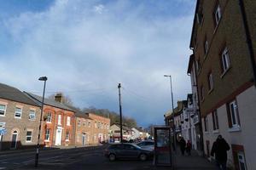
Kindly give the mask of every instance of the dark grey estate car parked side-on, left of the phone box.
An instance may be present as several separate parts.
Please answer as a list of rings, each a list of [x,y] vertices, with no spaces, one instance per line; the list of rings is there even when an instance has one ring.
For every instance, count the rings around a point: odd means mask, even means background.
[[[144,150],[136,144],[111,144],[105,150],[105,156],[109,161],[116,159],[139,159],[146,161],[154,156],[152,150]]]

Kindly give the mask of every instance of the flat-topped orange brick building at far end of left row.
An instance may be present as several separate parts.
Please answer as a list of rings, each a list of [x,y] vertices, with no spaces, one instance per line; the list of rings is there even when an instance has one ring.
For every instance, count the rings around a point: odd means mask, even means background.
[[[92,134],[90,135],[91,143],[98,144],[102,142],[108,142],[108,130],[110,127],[110,119],[107,117],[98,116],[93,113],[86,113],[86,115],[92,120],[90,122]]]

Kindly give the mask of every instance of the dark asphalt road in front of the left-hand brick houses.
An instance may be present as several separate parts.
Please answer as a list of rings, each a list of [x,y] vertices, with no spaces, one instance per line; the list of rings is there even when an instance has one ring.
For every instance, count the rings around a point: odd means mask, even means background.
[[[103,156],[106,145],[64,150],[42,150],[38,168],[34,167],[35,152],[0,155],[0,169],[152,169],[152,161],[108,161]]]

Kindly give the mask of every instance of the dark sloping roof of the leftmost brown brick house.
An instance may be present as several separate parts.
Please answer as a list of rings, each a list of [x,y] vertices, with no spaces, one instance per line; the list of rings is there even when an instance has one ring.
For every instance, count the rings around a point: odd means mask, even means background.
[[[0,98],[40,107],[40,105],[28,98],[26,94],[23,94],[18,88],[3,83],[0,83]]]

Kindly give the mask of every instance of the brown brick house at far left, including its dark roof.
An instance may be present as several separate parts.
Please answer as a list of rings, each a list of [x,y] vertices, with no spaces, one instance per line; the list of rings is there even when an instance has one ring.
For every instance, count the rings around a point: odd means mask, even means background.
[[[0,83],[0,150],[38,143],[40,105],[19,89]]]

